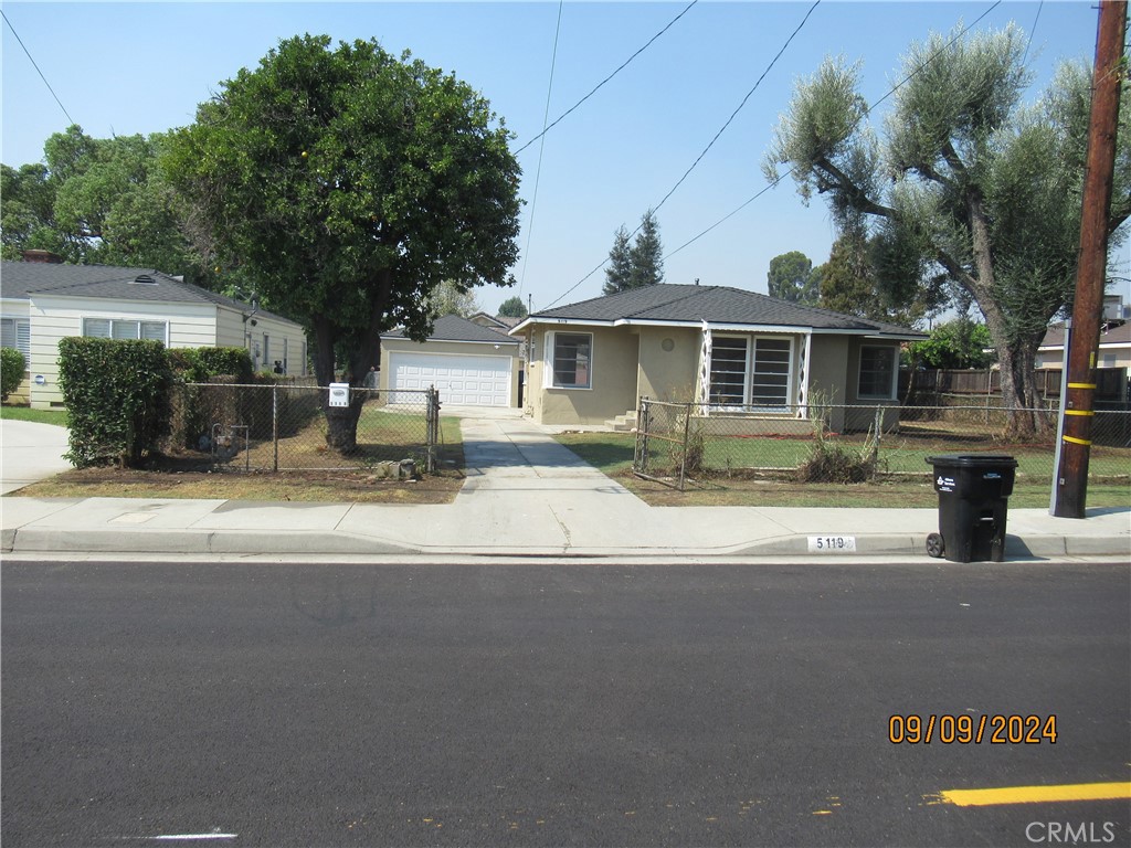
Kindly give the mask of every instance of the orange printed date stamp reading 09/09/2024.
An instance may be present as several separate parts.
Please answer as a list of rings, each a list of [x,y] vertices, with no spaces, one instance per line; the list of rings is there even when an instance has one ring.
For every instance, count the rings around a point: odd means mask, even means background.
[[[1056,744],[1056,716],[891,716],[888,742],[943,745],[1039,745]]]

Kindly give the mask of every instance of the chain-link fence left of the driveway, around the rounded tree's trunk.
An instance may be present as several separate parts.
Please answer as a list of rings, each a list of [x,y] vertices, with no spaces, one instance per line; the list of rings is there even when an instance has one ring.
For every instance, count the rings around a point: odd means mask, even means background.
[[[179,386],[166,452],[233,471],[373,470],[405,476],[434,471],[442,461],[435,389],[351,388],[348,403],[360,412],[356,447],[348,451],[327,444],[329,391],[287,383]]]

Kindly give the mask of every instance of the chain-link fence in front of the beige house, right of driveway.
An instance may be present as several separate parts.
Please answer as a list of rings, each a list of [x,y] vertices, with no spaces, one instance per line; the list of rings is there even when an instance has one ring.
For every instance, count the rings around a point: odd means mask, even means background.
[[[1001,407],[813,406],[767,413],[719,410],[703,404],[642,398],[637,412],[632,470],[683,488],[688,479],[735,471],[796,477],[835,456],[864,478],[923,474],[940,453],[1005,453],[1019,479],[1051,482],[1056,456],[1055,412],[1047,435],[1004,441],[1011,412]],[[1088,479],[1131,479],[1131,412],[1097,409],[1091,424]],[[838,481],[843,482],[843,481]]]

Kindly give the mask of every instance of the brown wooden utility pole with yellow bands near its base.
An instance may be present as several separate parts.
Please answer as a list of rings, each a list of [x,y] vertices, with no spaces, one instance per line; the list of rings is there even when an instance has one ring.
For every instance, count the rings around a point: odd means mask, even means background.
[[[1107,268],[1107,226],[1112,206],[1112,172],[1119,129],[1123,37],[1126,0],[1100,0],[1096,36],[1096,68],[1091,85],[1091,122],[1080,216],[1080,260],[1076,272],[1076,304],[1068,352],[1068,392],[1060,449],[1060,473],[1053,481],[1054,516],[1083,518],[1088,494],[1088,456],[1091,447],[1093,397],[1096,392],[1096,351],[1104,310]],[[1069,344],[1065,339],[1065,344]]]

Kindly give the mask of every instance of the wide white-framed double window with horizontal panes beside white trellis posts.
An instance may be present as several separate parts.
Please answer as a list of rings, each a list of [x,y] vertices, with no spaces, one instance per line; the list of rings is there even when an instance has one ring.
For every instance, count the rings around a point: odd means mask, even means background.
[[[715,336],[710,355],[710,403],[788,410],[793,386],[793,340],[761,336]]]

